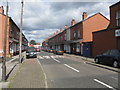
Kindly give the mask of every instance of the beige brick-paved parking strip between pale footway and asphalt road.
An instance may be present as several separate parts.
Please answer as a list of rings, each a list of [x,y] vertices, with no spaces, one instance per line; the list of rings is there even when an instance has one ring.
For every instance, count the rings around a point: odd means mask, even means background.
[[[9,88],[45,88],[45,77],[37,58],[26,59]]]

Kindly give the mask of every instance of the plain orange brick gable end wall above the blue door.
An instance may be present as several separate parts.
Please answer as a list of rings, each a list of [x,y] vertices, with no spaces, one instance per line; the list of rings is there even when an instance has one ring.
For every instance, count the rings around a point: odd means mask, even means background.
[[[109,20],[107,20],[100,13],[97,13],[88,20],[85,20],[83,22],[83,42],[93,41],[92,32],[106,29],[108,25],[109,25]]]

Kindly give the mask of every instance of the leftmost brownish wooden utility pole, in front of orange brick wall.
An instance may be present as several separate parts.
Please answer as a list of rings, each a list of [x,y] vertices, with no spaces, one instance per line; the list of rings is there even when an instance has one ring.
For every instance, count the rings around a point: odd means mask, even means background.
[[[4,53],[2,61],[2,81],[6,81],[6,37],[7,37],[7,25],[8,24],[8,2],[6,6],[6,18],[5,18],[5,29],[4,29]]]

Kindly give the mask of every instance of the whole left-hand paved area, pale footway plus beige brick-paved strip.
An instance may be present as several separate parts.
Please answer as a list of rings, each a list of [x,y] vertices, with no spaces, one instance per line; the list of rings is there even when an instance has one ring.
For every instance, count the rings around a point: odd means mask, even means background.
[[[0,82],[0,89],[4,88],[46,88],[46,78],[37,58],[26,59],[25,53],[23,62],[19,63],[19,56],[12,57],[6,62],[7,80]],[[2,67],[2,63],[0,63]],[[0,74],[2,75],[1,71]],[[1,77],[0,77],[1,79]]]

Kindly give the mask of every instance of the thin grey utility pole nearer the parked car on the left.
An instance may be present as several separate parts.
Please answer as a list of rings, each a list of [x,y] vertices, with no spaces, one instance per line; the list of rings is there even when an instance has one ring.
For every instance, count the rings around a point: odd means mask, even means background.
[[[19,50],[19,62],[22,63],[22,19],[23,19],[23,0],[21,2],[22,7],[21,7],[21,22],[20,22],[20,50]]]

